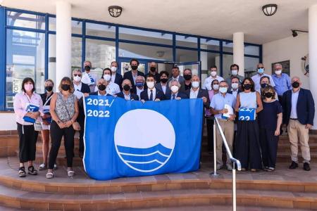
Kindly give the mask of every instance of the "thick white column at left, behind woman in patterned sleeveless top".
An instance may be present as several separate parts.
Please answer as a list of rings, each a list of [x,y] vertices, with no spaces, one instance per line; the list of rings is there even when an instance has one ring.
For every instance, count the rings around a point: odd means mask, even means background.
[[[72,15],[67,1],[56,1],[56,84],[71,76]],[[58,85],[56,86],[57,89]]]

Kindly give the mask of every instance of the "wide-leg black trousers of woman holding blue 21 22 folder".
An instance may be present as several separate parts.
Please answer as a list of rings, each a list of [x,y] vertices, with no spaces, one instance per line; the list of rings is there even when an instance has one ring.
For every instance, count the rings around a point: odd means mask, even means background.
[[[243,168],[262,169],[259,125],[256,120],[237,122],[235,156]]]

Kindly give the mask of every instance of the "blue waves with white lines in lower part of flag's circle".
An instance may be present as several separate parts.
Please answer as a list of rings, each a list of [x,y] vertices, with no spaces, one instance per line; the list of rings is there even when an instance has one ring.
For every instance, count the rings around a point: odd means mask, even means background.
[[[173,151],[161,145],[161,143],[150,148],[132,148],[127,146],[117,146],[117,148],[121,158],[128,165],[143,171],[154,170],[160,167],[170,158],[170,154]]]

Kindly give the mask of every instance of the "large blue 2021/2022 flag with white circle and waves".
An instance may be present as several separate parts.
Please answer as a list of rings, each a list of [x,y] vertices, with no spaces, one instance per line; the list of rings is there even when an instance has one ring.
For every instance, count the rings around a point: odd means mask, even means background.
[[[203,102],[85,98],[85,171],[93,179],[199,168]]]

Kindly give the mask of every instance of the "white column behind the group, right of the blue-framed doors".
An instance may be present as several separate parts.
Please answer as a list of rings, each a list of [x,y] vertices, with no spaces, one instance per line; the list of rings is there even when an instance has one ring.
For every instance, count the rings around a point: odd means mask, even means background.
[[[244,76],[244,33],[233,34],[233,63],[239,65],[239,75]]]

